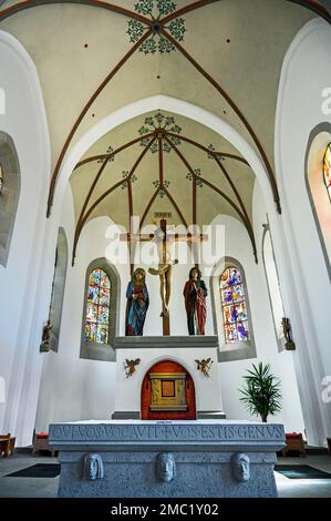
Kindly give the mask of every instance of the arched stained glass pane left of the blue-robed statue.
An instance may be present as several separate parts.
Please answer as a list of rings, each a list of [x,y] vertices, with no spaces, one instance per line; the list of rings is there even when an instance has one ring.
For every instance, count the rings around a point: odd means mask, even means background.
[[[85,341],[107,344],[110,296],[110,277],[103,269],[93,269],[89,278]]]

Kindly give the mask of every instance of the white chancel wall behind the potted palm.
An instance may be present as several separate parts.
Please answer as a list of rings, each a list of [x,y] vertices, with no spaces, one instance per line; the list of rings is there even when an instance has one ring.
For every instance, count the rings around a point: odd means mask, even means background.
[[[271,307],[267,290],[267,283],[261,259],[262,223],[266,222],[263,211],[263,196],[256,182],[254,192],[254,225],[259,254],[259,264],[254,259],[251,244],[248,234],[241,223],[229,216],[219,216],[217,222],[225,225],[226,256],[239,260],[242,265],[249,304],[254,336],[257,349],[257,358],[239,361],[227,361],[219,364],[220,389],[223,407],[228,419],[257,419],[250,417],[239,400],[239,388],[244,385],[242,376],[251,364],[270,364],[272,372],[280,378],[282,389],[282,410],[275,417],[269,417],[269,421],[277,421],[285,425],[286,431],[303,432],[304,425],[301,413],[298,388],[296,385],[296,374],[291,354],[278,353],[278,345],[272,323]],[[214,221],[215,222],[215,221]],[[221,348],[223,346],[220,346]]]

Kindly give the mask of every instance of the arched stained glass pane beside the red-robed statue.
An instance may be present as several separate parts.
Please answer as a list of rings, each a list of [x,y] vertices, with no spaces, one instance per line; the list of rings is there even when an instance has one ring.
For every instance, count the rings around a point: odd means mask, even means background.
[[[247,305],[239,269],[234,266],[225,269],[219,286],[226,344],[249,340]]]

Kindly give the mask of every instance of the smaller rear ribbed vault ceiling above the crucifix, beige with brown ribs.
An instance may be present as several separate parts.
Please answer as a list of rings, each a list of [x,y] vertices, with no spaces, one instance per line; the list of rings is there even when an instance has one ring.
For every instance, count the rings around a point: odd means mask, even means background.
[[[151,224],[154,212],[172,212],[172,223],[185,226],[203,226],[225,213],[249,228],[254,181],[249,165],[219,134],[154,111],[99,140],[76,165],[71,186],[77,229],[101,215],[126,228],[131,215]]]

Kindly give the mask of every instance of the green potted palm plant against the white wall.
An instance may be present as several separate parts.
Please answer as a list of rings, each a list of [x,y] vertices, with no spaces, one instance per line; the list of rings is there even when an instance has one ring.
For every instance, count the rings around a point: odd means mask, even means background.
[[[252,369],[247,369],[244,376],[246,385],[241,392],[240,401],[251,415],[260,416],[267,422],[269,415],[276,415],[281,410],[280,380],[271,372],[269,364],[252,364]]]

